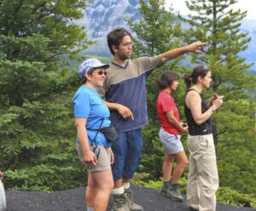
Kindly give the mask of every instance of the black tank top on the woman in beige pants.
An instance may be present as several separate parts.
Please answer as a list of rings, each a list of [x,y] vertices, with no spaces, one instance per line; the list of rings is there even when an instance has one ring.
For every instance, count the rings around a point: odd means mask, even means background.
[[[189,91],[192,91],[192,90],[196,91],[194,88],[190,88],[187,94],[189,93]],[[204,113],[209,109],[209,106],[207,106],[206,100],[204,100],[201,94],[200,94],[200,97],[201,97],[201,112]],[[211,118],[208,118],[205,123],[197,124],[193,119],[190,109],[186,106],[186,103],[184,105],[184,111],[185,111],[185,117],[187,119],[187,123],[189,126],[190,135],[212,134]]]

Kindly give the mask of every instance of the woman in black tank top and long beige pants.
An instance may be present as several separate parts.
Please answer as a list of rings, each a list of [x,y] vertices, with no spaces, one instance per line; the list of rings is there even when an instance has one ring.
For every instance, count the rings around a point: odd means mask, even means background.
[[[195,67],[192,74],[185,75],[184,79],[188,88],[184,111],[189,125],[187,202],[190,210],[215,211],[218,169],[211,116],[222,105],[223,97],[212,96],[211,106],[207,106],[201,91],[210,87],[212,74],[206,66]]]

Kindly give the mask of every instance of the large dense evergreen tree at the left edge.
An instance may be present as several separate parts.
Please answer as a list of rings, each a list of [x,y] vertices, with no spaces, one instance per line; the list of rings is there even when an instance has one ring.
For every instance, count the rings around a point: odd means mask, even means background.
[[[84,8],[80,0],[0,2],[0,169],[6,187],[51,191],[80,184],[70,94],[77,81],[63,58],[90,44],[84,28],[73,23]]]

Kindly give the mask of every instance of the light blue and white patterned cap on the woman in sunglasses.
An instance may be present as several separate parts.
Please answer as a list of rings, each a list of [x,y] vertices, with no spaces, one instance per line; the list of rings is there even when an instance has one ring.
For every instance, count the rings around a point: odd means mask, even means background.
[[[97,59],[88,59],[84,60],[82,64],[79,66],[79,77],[82,79],[84,77],[84,73],[91,70],[91,68],[104,67],[108,68],[109,65],[102,63]]]

